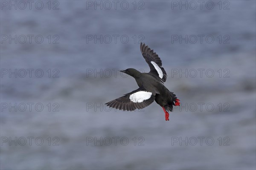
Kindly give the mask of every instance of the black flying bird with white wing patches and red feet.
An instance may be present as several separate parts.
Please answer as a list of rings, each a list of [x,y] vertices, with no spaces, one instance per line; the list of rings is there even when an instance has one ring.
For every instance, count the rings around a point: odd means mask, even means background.
[[[174,105],[180,106],[180,100],[163,84],[167,75],[162,67],[160,57],[144,43],[140,44],[140,51],[149,65],[150,71],[148,73],[141,73],[134,68],[120,70],[134,77],[139,88],[105,105],[123,111],[134,111],[145,108],[156,101],[163,108],[166,121],[169,121],[168,111],[172,111]]]

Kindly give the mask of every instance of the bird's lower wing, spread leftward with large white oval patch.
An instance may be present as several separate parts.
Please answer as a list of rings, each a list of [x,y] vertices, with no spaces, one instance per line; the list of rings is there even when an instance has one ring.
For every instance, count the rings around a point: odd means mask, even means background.
[[[125,94],[122,97],[112,100],[105,105],[116,108],[123,111],[134,111],[135,109],[142,109],[154,102],[155,94],[145,90],[144,88],[138,88],[131,93]]]

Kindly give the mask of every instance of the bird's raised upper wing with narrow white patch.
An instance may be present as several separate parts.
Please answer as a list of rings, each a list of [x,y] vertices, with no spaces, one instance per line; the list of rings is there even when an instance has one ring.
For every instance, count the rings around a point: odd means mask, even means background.
[[[143,43],[140,44],[140,51],[150,67],[149,74],[159,77],[165,82],[167,78],[166,71],[162,67],[162,61],[158,55]]]

